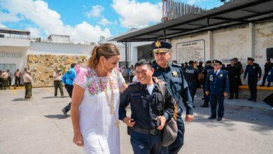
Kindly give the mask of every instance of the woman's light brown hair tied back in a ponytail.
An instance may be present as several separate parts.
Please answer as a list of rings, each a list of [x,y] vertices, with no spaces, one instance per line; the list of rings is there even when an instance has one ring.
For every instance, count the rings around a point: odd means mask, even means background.
[[[106,59],[109,59],[115,55],[120,55],[120,51],[111,43],[104,43],[102,45],[97,45],[92,50],[92,57],[88,59],[88,66],[94,68],[99,64],[99,57],[104,56]]]

